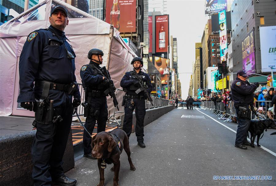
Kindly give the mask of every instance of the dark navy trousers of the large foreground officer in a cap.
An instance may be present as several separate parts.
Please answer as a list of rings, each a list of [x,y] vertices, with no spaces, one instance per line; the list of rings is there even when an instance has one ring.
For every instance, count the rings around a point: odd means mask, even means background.
[[[51,185],[51,181],[64,175],[62,158],[72,123],[72,97],[55,107],[63,121],[56,124],[36,124],[36,135],[32,146],[33,173],[35,186]]]

